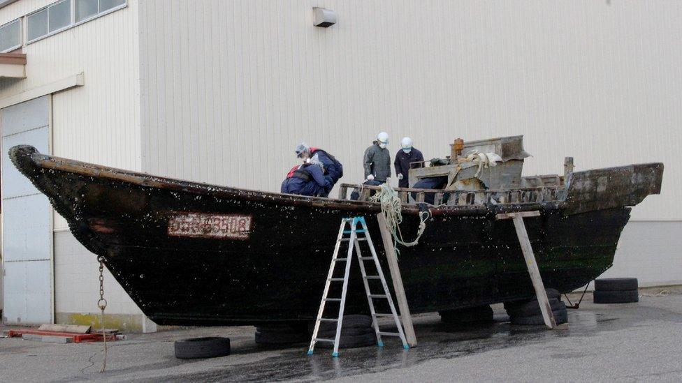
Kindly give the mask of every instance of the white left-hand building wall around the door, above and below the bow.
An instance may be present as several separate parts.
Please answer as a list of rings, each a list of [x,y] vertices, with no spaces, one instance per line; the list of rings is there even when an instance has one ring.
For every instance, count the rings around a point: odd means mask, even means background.
[[[55,0],[20,0],[0,8],[0,24]],[[52,153],[141,170],[137,1],[95,20],[26,45],[24,80],[0,80],[0,99],[83,73],[85,85],[52,96]],[[25,26],[25,24],[24,24]],[[57,321],[99,311],[99,263],[55,213]],[[140,314],[106,271],[110,313]],[[75,319],[74,319],[75,320]],[[87,315],[80,320],[88,320]],[[122,326],[126,328],[125,319]],[[138,319],[138,324],[139,324]]]

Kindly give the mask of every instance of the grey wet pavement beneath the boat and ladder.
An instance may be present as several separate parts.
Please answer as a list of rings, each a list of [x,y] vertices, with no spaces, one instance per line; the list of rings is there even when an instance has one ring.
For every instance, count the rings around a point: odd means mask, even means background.
[[[192,328],[135,334],[110,343],[100,374],[101,343],[52,345],[0,339],[1,382],[261,382],[373,381],[682,381],[682,294],[641,296],[639,303],[569,310],[567,329],[511,326],[501,305],[495,324],[457,329],[437,314],[415,317],[419,346],[402,350],[396,339],[383,349],[331,350],[307,356],[306,344],[259,347],[251,326]],[[588,296],[587,301],[591,302]],[[233,354],[179,360],[173,341],[228,336]]]

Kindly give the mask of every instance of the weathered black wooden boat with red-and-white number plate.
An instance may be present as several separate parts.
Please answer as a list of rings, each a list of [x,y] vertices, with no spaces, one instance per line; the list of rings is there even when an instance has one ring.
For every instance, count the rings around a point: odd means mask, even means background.
[[[159,324],[314,319],[344,217],[364,216],[383,251],[376,202],[154,177],[28,146],[13,147],[10,158]],[[662,171],[650,163],[544,177],[553,185],[419,190],[438,193],[440,206],[409,203],[411,190],[399,190],[405,236],[416,232],[420,209],[430,211],[419,245],[400,248],[412,313],[533,296],[513,225],[495,220],[497,213],[540,211],[526,225],[545,286],[569,292],[585,285],[611,266],[629,206],[660,193]],[[365,310],[361,282],[351,280],[349,289],[347,313]]]

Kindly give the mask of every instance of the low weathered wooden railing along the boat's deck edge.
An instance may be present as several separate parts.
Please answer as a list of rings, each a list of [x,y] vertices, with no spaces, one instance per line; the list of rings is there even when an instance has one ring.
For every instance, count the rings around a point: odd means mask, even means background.
[[[342,183],[339,198],[348,200],[348,190],[354,190],[358,201],[368,201],[381,186],[370,186],[356,183]],[[433,205],[451,206],[484,205],[484,204],[524,204],[537,202],[554,202],[565,197],[564,186],[541,186],[536,188],[514,188],[509,190],[443,190],[393,188],[403,204],[423,203],[427,196],[433,195]],[[430,198],[429,198],[430,200]]]

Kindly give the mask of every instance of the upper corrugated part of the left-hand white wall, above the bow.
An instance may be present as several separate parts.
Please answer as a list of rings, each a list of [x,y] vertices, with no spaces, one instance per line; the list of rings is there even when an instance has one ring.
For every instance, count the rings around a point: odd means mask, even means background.
[[[55,1],[22,0],[2,8],[0,24]],[[25,27],[25,26],[24,26]],[[140,170],[137,3],[23,48],[24,80],[0,80],[0,98],[84,73],[85,87],[52,98],[52,153]],[[66,229],[55,214],[55,229]]]

